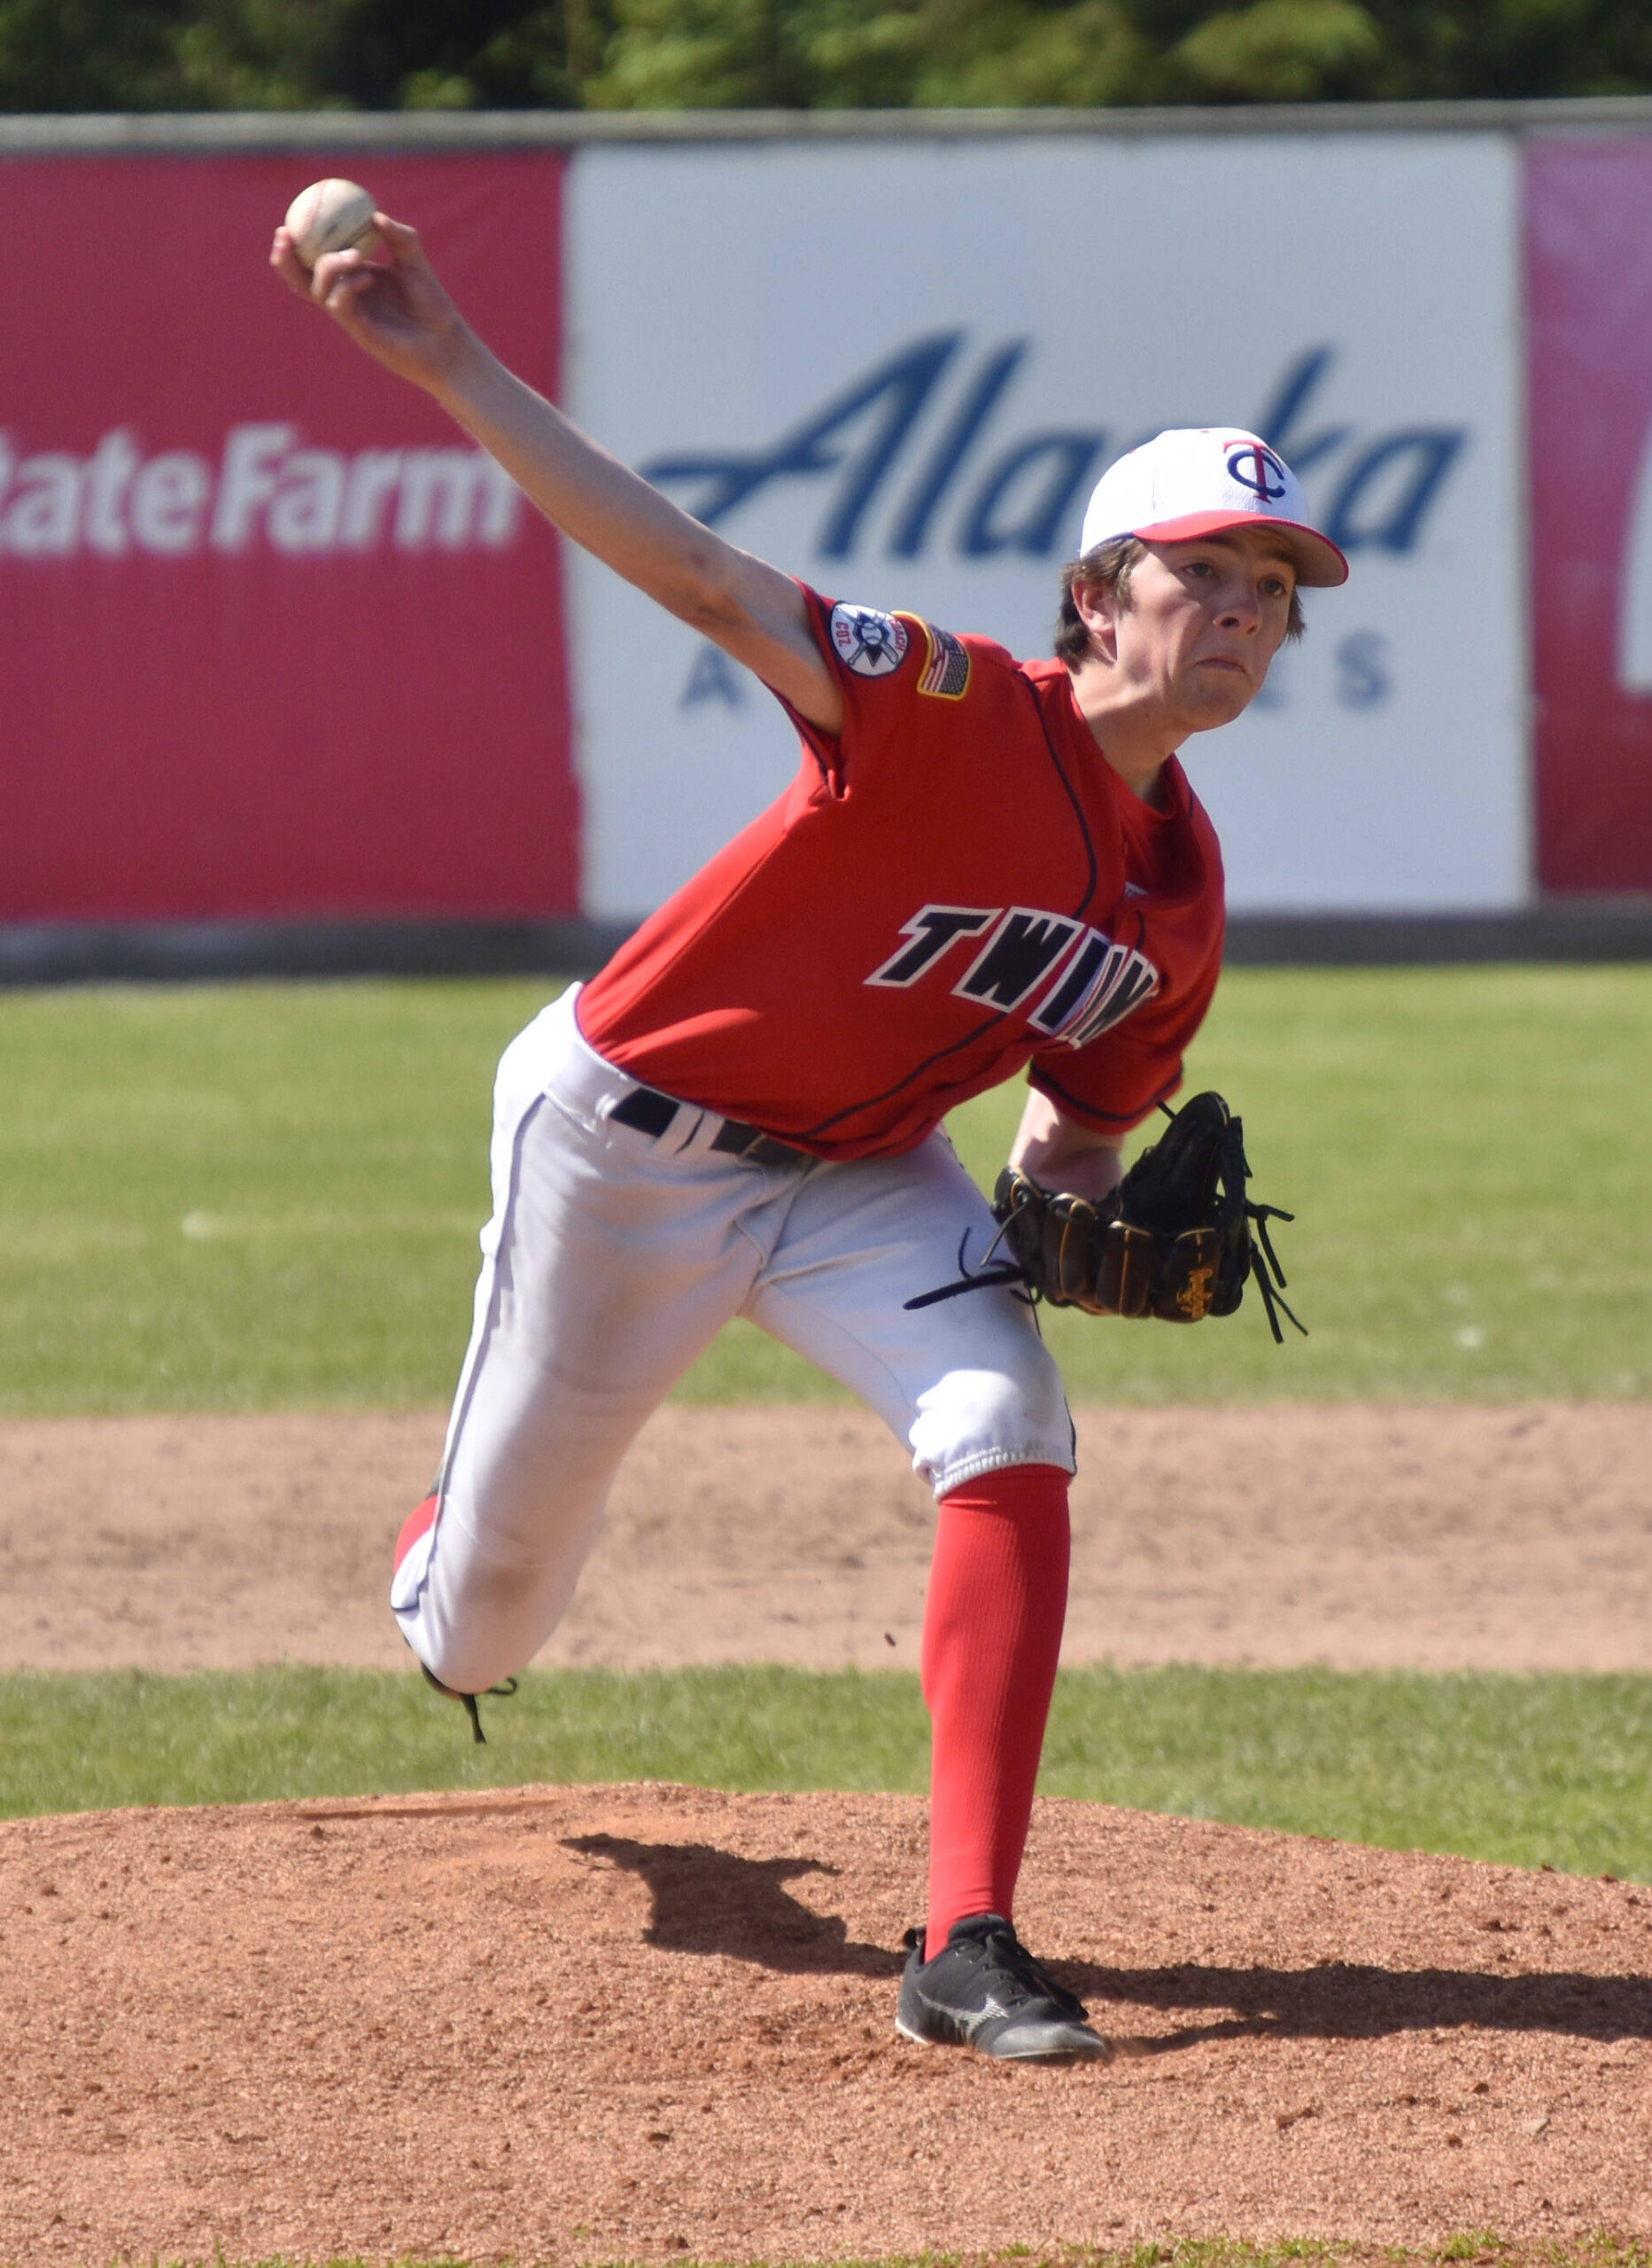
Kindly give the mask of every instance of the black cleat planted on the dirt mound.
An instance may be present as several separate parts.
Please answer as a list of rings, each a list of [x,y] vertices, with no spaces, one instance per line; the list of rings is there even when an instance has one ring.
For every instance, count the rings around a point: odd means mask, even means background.
[[[1083,2021],[1083,2000],[1042,1969],[1002,1914],[968,1914],[931,1962],[906,1932],[895,2030],[929,2048],[979,2048],[1015,2064],[1106,2062],[1113,2043]]]

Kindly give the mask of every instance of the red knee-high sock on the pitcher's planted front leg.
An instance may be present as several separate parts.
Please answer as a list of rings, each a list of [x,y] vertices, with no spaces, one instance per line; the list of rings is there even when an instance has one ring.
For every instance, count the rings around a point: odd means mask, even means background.
[[[1011,1916],[1067,1615],[1067,1474],[1006,1465],[940,1499],[922,1678],[934,1721],[925,1957]]]

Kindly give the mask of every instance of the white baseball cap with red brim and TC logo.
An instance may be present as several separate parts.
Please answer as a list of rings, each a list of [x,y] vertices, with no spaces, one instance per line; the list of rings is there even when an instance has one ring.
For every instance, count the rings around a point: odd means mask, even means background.
[[[1174,544],[1221,528],[1278,528],[1298,583],[1348,581],[1346,558],[1308,517],[1303,483],[1264,440],[1237,426],[1178,426],[1108,465],[1090,494],[1079,551],[1119,535]]]

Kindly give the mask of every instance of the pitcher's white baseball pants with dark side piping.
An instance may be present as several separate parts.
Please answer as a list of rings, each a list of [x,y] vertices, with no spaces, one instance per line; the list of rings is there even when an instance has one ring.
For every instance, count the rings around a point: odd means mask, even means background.
[[[440,1479],[390,1603],[455,1692],[521,1669],[562,1617],[648,1413],[748,1315],[868,1402],[938,1497],[999,1465],[1074,1470],[1061,1377],[1024,1302],[977,1290],[916,1315],[993,1216],[945,1134],[897,1159],[759,1166],[680,1105],[614,1125],[635,1080],[580,1036],[567,991],[505,1050],[494,1216]]]

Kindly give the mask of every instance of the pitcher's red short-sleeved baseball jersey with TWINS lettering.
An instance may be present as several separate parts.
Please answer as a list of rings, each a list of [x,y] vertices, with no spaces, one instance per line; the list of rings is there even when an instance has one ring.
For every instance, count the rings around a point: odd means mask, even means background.
[[[648,1086],[818,1157],[911,1150],[1024,1064],[1124,1132],[1221,964],[1221,853],[1181,764],[1113,771],[1063,662],[804,592],[843,733],[578,1000]]]

